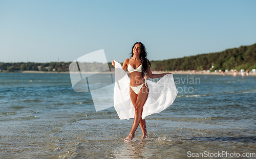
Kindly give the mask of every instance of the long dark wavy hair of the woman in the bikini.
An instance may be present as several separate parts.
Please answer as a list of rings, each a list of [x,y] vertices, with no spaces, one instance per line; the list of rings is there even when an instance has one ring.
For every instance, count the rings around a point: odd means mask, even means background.
[[[146,56],[147,56],[147,52],[146,52],[146,47],[145,47],[145,45],[144,44],[142,44],[141,42],[136,42],[134,45],[133,45],[133,47],[132,47],[132,52],[130,53],[131,54],[131,57],[130,58],[132,58],[133,57],[133,48],[134,48],[134,46],[136,45],[136,44],[140,44],[140,60],[141,60],[141,64],[142,64],[142,76],[144,76],[145,74],[146,74],[146,72],[147,72],[147,70],[149,70],[150,69],[150,66],[151,66],[151,63],[150,63],[150,60],[148,60],[147,58],[146,58]]]

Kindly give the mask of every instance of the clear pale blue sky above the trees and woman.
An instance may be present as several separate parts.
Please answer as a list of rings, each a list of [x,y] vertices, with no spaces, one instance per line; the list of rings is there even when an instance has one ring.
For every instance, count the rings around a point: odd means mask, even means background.
[[[108,62],[145,44],[150,60],[256,43],[256,1],[1,1],[0,62]]]

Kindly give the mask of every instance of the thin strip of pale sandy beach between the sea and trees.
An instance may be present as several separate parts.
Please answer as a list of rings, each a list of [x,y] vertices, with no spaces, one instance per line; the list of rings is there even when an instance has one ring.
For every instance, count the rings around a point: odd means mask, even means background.
[[[194,74],[194,75],[202,75],[202,74],[205,74],[205,75],[233,75],[233,72],[224,72],[221,73],[221,72],[203,72],[203,71],[169,71],[170,73],[173,73],[173,74]],[[70,72],[56,72],[56,71],[14,71],[14,72],[6,72],[6,71],[1,71],[0,73],[70,73]],[[78,72],[75,72],[75,73],[78,73]],[[82,72],[82,73],[88,73],[88,74],[95,74],[95,73],[98,73],[98,72]],[[100,72],[102,74],[109,74],[109,73],[115,73],[114,71],[112,72]],[[160,74],[160,73],[165,73],[165,71],[152,71],[152,73],[156,73],[156,74]],[[241,73],[239,72],[238,75],[241,75]],[[238,76],[237,75],[237,76]],[[249,76],[250,75],[253,75],[253,76],[256,76],[256,72],[252,72],[250,73],[249,72]],[[246,74],[244,76],[247,76]]]

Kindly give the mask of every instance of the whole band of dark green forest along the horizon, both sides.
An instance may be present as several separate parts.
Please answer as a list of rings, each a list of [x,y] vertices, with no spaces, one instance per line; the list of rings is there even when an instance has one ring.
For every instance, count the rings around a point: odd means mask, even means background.
[[[50,62],[50,63],[1,63],[1,71],[69,71],[71,62]],[[108,63],[110,68],[114,68],[111,63]],[[249,46],[240,46],[239,48],[230,48],[221,52],[214,52],[210,54],[200,54],[196,56],[189,56],[177,59],[168,59],[161,61],[151,61],[151,70],[156,71],[174,71],[174,70],[208,70],[211,66],[214,70],[225,69],[255,69],[256,68],[256,43]],[[97,66],[104,66],[97,63]],[[94,70],[91,70],[94,71]]]

